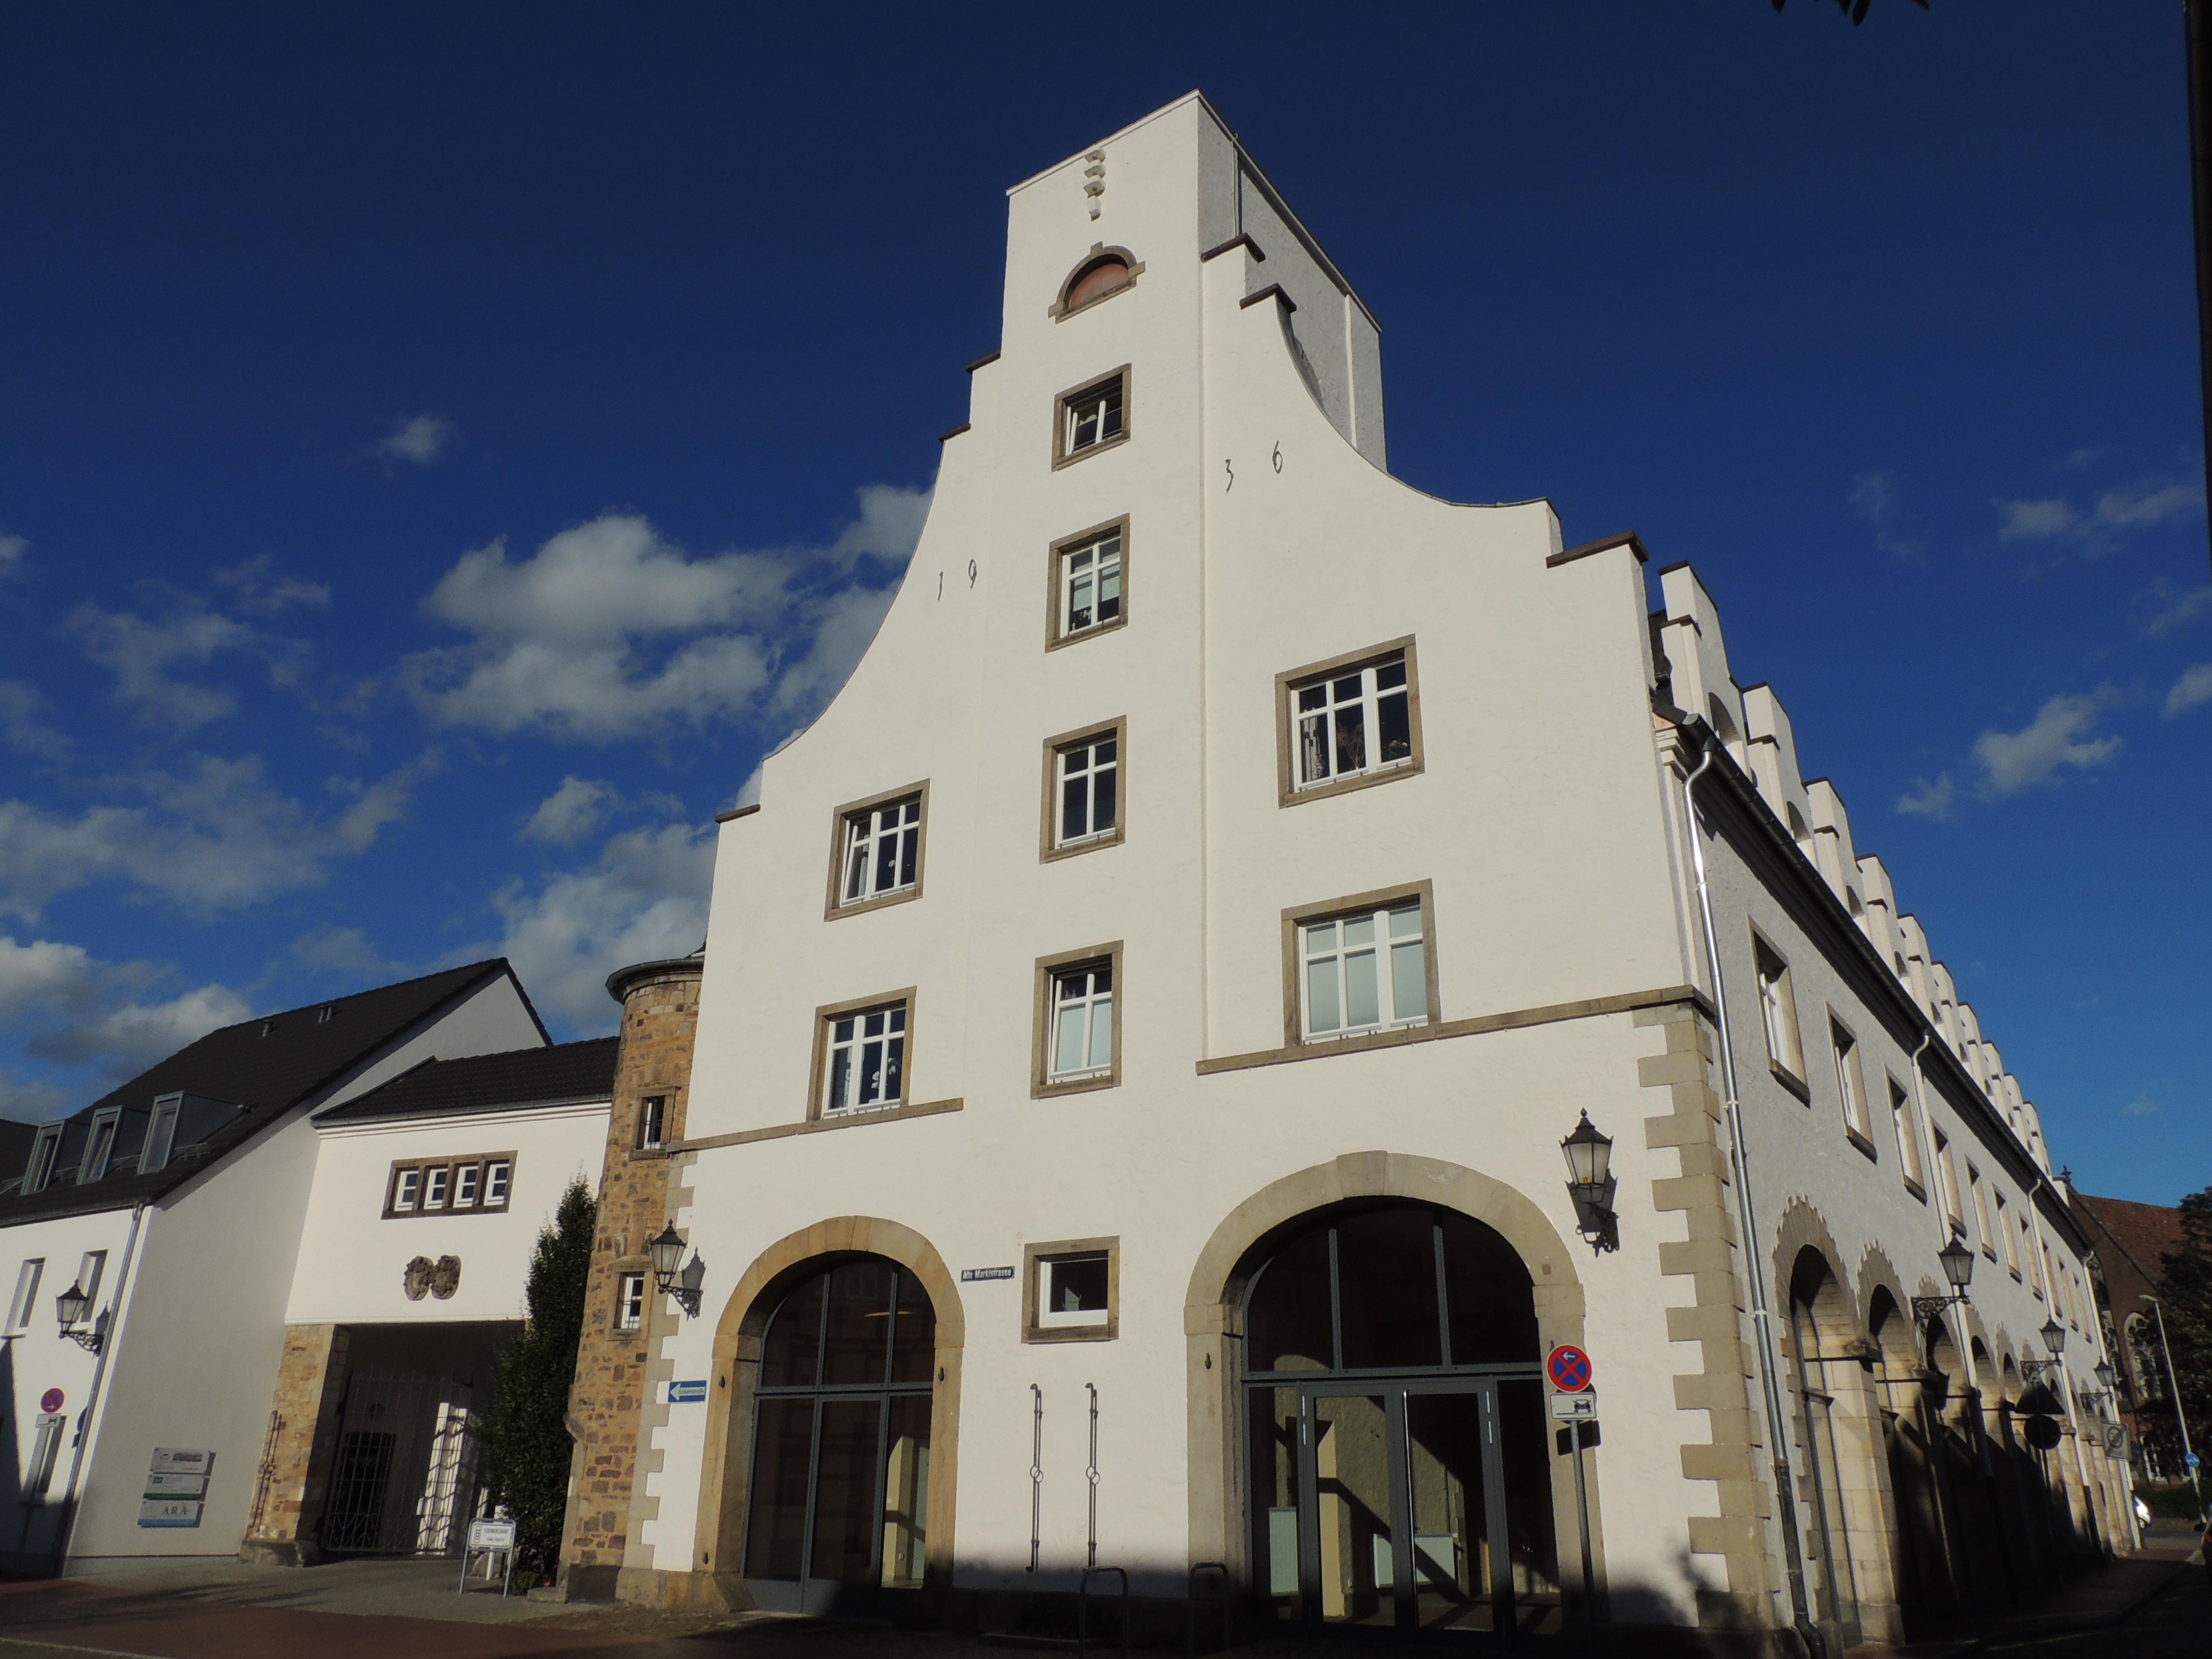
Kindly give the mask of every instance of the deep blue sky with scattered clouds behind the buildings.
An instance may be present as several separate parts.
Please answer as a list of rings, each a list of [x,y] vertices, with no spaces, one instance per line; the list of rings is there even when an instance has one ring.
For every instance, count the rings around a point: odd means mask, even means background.
[[[11,7],[0,1110],[697,945],[995,345],[1004,186],[1201,86],[1391,465],[1714,591],[2095,1192],[2212,1181],[2179,13]]]

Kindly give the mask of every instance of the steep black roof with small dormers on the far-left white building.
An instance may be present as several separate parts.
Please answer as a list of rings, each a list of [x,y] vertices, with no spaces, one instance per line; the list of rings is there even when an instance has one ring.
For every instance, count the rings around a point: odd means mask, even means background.
[[[210,1031],[199,1042],[190,1042],[168,1060],[148,1066],[122,1088],[111,1088],[84,1110],[62,1119],[69,1124],[62,1133],[62,1152],[55,1159],[53,1179],[40,1192],[24,1194],[13,1186],[22,1177],[29,1152],[13,1168],[0,1166],[0,1179],[11,1181],[9,1190],[0,1192],[0,1225],[115,1210],[161,1197],[281,1121],[294,1106],[341,1082],[427,1018],[500,975],[513,978],[513,969],[507,967],[507,958],[491,958]],[[522,995],[520,982],[515,982],[515,993]],[[529,1009],[526,995],[522,995],[522,1004]],[[531,1020],[538,1020],[535,1009],[531,1009]],[[538,1029],[544,1031],[544,1024]],[[217,1102],[234,1108],[234,1115],[228,1121],[217,1121],[192,1144],[186,1144],[184,1130],[179,1130],[168,1164],[142,1175],[137,1144],[144,1144],[153,1102],[177,1093],[199,1097],[199,1106],[192,1102],[186,1106],[199,1113],[201,1121],[208,1115],[221,1117],[221,1113],[210,1110]],[[75,1179],[75,1150],[82,1150],[93,1115],[106,1106],[126,1108],[115,1146],[115,1172],[80,1183]],[[133,1135],[137,1135],[137,1144],[133,1144]]]

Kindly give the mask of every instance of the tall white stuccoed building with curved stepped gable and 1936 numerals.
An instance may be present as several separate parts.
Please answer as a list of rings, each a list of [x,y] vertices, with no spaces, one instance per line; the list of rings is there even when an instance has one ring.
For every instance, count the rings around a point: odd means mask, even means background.
[[[2124,1537],[2084,1237],[1838,794],[1688,568],[1400,484],[1380,385],[1199,95],[1009,192],[905,586],[721,827],[699,1305],[591,1314],[624,1595],[1840,1648]]]

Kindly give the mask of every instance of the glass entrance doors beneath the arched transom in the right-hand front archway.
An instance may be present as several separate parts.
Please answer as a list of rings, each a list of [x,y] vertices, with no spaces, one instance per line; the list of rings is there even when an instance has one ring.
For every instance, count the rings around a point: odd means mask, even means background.
[[[1542,1387],[1343,1387],[1254,1391],[1270,1601],[1310,1624],[1557,1630]]]

